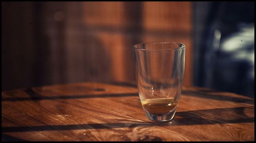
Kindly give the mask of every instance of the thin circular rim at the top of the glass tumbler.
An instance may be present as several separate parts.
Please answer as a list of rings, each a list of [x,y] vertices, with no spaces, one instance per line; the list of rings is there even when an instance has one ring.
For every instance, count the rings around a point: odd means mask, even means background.
[[[175,47],[175,48],[166,48],[166,49],[142,49],[142,48],[139,48],[139,45],[142,45],[142,44],[177,44],[179,45],[179,47]],[[185,44],[183,43],[180,43],[180,42],[142,42],[142,43],[138,43],[138,44],[135,44],[133,45],[133,48],[136,49],[136,50],[144,50],[144,51],[160,51],[160,50],[177,50],[177,49],[184,49],[186,46]]]

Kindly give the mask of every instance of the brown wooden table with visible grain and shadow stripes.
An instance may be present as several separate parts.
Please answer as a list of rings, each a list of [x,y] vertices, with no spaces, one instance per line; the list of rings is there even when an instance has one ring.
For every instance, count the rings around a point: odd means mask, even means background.
[[[136,85],[72,83],[2,92],[2,140],[254,140],[254,99],[183,88],[172,122],[145,116]]]

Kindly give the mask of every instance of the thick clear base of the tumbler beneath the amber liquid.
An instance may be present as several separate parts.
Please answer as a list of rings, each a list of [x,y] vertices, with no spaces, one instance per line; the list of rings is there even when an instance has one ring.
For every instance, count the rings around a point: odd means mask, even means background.
[[[155,114],[155,113],[150,113],[145,111],[147,118],[155,122],[170,121],[174,118],[175,112],[176,112],[176,109],[164,114]]]

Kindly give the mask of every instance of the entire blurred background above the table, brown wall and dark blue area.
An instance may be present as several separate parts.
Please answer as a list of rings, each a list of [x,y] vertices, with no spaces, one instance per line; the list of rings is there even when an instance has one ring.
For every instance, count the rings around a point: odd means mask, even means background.
[[[186,45],[184,86],[254,98],[254,2],[2,2],[2,91],[135,82],[153,41]]]

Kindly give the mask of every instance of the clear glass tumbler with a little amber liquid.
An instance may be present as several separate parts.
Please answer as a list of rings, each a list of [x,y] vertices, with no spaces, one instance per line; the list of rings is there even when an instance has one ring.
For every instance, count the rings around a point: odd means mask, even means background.
[[[181,95],[185,45],[150,42],[133,49],[137,88],[146,116],[157,122],[172,120]]]

